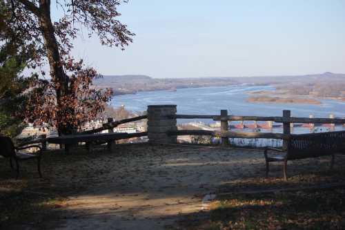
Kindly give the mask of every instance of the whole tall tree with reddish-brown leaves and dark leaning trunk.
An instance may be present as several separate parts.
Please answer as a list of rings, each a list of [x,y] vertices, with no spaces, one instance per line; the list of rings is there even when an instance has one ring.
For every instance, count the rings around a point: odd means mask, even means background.
[[[96,70],[75,61],[70,55],[72,41],[86,28],[88,36],[97,36],[102,45],[124,49],[134,35],[117,18],[121,0],[56,1],[61,17],[52,21],[50,0],[2,0],[7,15],[5,23],[13,28],[26,46],[19,52],[30,52],[28,67],[35,69],[25,118],[35,125],[57,126],[59,134],[74,131],[82,122],[103,111],[110,90],[92,88],[100,77]],[[59,15],[59,14],[58,14]],[[50,80],[42,66],[50,66]]]

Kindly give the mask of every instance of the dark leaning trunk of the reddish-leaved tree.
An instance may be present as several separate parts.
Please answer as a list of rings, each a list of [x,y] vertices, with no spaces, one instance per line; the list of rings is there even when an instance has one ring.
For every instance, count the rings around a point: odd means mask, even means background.
[[[52,25],[52,20],[50,18],[50,0],[39,1],[39,10],[41,12],[41,15],[39,16],[39,25],[46,45],[47,57],[50,65],[50,75],[52,77],[52,81],[55,82],[57,106],[61,108],[63,97],[69,95],[69,78],[68,75],[65,74],[63,66],[61,65],[59,47],[54,34],[54,26]],[[57,114],[57,131],[59,135],[70,134],[74,129],[70,124],[64,125],[63,122],[61,122],[61,119],[66,117],[63,112],[64,111],[60,110],[59,114]]]

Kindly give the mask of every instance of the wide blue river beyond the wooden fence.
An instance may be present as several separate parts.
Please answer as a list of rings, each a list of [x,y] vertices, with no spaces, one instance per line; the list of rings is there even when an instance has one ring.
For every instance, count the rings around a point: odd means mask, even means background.
[[[248,103],[248,92],[253,90],[275,90],[272,86],[224,86],[205,88],[183,88],[177,91],[157,90],[133,95],[119,95],[112,99],[112,106],[124,105],[130,111],[146,111],[152,104],[176,104],[177,113],[217,115],[227,109],[232,115],[281,116],[288,109],[293,117],[345,117],[345,102],[322,99],[321,105]]]

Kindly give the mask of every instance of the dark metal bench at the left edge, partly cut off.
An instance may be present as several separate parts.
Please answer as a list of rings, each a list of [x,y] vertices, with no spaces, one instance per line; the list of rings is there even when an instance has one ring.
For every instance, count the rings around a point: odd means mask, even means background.
[[[22,153],[21,150],[28,149],[28,148],[39,148],[39,151],[36,151],[34,153]],[[10,158],[10,166],[12,169],[13,163],[12,160],[16,163],[16,169],[17,169],[17,176],[19,176],[19,162],[22,162],[24,160],[31,160],[36,159],[37,160],[37,170],[39,171],[39,177],[42,177],[41,173],[41,146],[38,145],[30,145],[30,146],[14,146],[12,140],[10,137],[3,137],[0,136],[0,155],[3,157],[9,157]]]

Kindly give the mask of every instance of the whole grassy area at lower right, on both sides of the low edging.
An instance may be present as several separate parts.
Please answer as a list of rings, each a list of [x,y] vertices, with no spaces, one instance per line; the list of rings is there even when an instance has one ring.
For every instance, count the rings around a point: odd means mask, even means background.
[[[344,185],[301,189],[342,184],[344,174],[345,169],[338,169],[302,173],[287,182],[281,178],[234,180],[219,186],[209,211],[186,215],[173,229],[345,229]],[[290,188],[293,191],[284,191]]]

